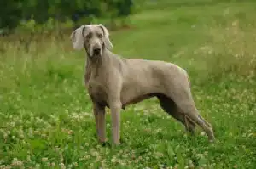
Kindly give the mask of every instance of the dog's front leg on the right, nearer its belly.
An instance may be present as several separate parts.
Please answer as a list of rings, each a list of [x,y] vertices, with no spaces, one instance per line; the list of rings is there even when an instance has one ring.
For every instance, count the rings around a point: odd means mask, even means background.
[[[112,136],[113,144],[120,144],[120,110],[122,104],[120,101],[112,101],[110,104],[111,121],[112,121]]]

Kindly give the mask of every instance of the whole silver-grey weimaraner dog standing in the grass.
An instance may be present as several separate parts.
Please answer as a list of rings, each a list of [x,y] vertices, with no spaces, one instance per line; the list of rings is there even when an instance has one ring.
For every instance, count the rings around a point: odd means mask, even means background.
[[[204,120],[195,107],[190,91],[189,76],[172,63],[155,60],[125,59],[111,52],[107,28],[102,25],[81,25],[71,34],[73,48],[85,49],[84,82],[93,104],[98,140],[105,143],[105,108],[111,110],[113,144],[120,143],[119,111],[151,97],[180,121],[189,132],[195,123],[213,141],[212,125]]]

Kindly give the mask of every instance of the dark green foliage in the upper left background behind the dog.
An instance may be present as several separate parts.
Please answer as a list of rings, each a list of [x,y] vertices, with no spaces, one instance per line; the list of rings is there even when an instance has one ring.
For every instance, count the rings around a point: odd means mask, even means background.
[[[24,20],[34,20],[37,24],[45,24],[49,19],[59,22],[80,18],[94,17],[117,18],[131,14],[133,3],[131,0],[22,0],[1,1],[0,28],[15,28]]]

